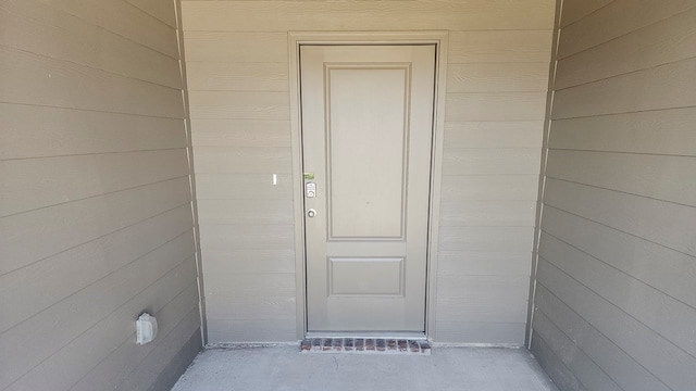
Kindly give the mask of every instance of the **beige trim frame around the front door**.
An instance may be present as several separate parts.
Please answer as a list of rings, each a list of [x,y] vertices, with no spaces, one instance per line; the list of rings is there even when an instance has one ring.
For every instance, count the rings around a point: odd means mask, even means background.
[[[302,133],[300,108],[301,45],[435,45],[435,102],[433,106],[433,151],[431,154],[430,219],[425,281],[425,338],[435,339],[437,297],[437,244],[439,200],[445,134],[447,47],[449,34],[435,31],[289,31],[290,139],[293,149],[293,206],[295,222],[295,275],[297,338],[307,336],[307,260],[304,253],[304,189],[302,173]]]

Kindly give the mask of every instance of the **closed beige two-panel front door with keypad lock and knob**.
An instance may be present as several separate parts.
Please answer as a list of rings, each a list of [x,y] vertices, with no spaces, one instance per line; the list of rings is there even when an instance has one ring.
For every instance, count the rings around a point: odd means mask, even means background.
[[[422,332],[435,47],[302,46],[300,80],[308,330]]]

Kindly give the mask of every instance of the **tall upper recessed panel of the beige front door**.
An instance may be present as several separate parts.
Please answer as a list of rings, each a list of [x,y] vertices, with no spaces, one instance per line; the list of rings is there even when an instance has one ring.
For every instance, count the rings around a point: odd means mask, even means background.
[[[403,237],[408,65],[325,68],[330,240]]]

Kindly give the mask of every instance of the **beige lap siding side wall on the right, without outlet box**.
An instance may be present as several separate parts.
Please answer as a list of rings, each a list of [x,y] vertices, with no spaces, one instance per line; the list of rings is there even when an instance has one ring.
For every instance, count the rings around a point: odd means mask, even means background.
[[[696,3],[566,0],[533,350],[561,390],[696,384]]]

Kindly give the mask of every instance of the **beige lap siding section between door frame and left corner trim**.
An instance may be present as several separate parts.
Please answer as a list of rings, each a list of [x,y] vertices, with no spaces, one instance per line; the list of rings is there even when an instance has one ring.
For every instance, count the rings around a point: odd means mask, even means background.
[[[209,341],[296,340],[287,37],[185,42]]]

